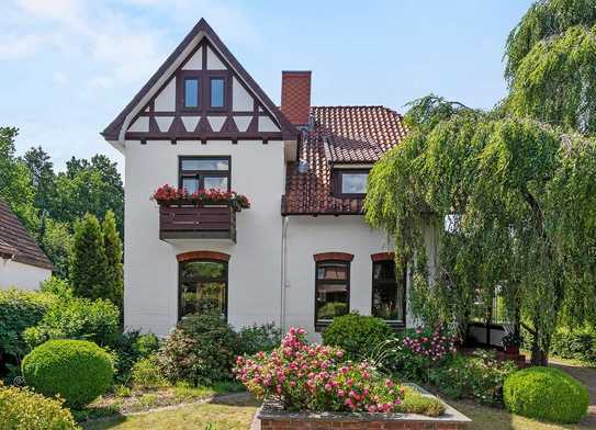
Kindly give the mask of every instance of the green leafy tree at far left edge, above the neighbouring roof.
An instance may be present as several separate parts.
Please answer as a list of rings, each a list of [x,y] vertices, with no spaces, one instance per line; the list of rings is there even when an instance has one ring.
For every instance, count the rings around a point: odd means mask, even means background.
[[[11,207],[25,228],[35,234],[38,225],[35,191],[26,166],[14,157],[18,135],[18,128],[0,127],[0,199]]]

